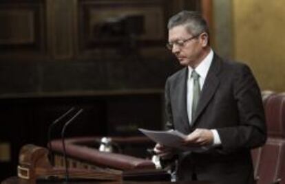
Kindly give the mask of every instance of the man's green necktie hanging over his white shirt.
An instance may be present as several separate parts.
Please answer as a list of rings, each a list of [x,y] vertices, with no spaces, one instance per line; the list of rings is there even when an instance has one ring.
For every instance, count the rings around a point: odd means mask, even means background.
[[[191,73],[191,78],[193,78],[192,120],[196,113],[196,108],[200,97],[199,77],[199,74],[193,70]]]

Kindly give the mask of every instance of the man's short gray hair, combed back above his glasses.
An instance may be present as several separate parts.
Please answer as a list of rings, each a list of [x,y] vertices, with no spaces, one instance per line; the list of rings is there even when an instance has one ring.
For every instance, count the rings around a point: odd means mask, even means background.
[[[202,32],[206,32],[209,36],[207,22],[199,12],[183,10],[178,14],[171,16],[167,25],[168,30],[171,30],[178,25],[184,25],[187,32],[193,36],[201,34]]]

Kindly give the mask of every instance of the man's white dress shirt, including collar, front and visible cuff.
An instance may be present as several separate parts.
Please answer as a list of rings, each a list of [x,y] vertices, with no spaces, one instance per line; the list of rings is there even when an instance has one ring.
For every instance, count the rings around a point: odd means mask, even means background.
[[[200,64],[196,67],[195,71],[199,74],[199,84],[201,91],[204,86],[205,79],[207,77],[207,73],[209,71],[209,68],[211,66],[213,60],[213,50],[209,52],[209,54],[200,62]],[[189,123],[191,125],[191,117],[192,117],[192,101],[193,101],[193,78],[191,78],[191,73],[193,69],[191,67],[188,67],[188,80],[187,80],[187,114],[189,118]],[[211,130],[213,133],[213,146],[218,146],[221,144],[220,141],[220,135],[218,134],[218,131],[215,129]]]

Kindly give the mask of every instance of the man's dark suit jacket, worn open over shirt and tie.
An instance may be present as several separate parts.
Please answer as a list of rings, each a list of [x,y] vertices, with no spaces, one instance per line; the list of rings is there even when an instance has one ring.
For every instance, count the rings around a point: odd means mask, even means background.
[[[264,108],[257,82],[246,65],[214,54],[191,127],[187,117],[185,67],[167,79],[165,87],[167,128],[188,135],[195,128],[216,129],[222,146],[207,152],[178,154],[179,181],[254,183],[251,148],[266,141]]]

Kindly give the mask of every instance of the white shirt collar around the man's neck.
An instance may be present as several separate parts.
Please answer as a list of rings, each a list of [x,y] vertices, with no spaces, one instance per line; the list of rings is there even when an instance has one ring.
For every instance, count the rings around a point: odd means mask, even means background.
[[[206,58],[204,58],[204,60],[202,60],[202,62],[200,62],[200,64],[195,69],[195,71],[199,74],[200,78],[203,78],[203,79],[206,78],[209,68],[211,66],[212,60],[213,60],[213,50],[211,49],[209,54],[206,56]],[[190,66],[188,67],[188,69],[189,69],[188,76],[189,78],[191,78],[191,73],[193,69]]]

